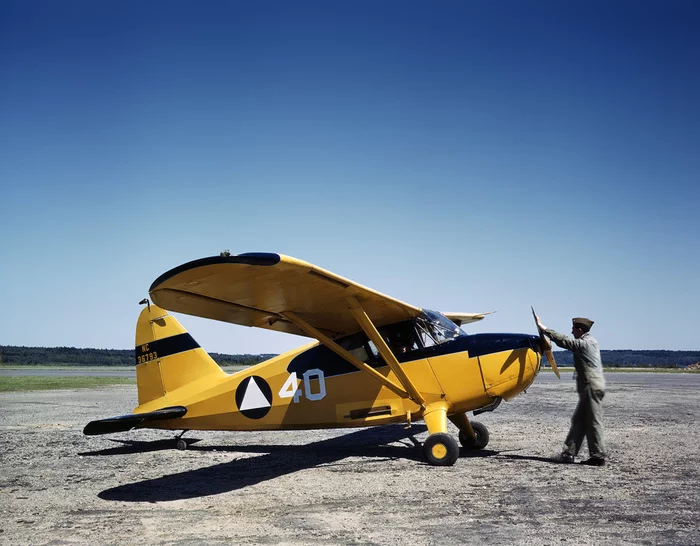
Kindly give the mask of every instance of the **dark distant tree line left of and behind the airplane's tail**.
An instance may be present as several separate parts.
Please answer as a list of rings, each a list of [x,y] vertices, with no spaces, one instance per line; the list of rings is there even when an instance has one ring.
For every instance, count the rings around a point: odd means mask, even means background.
[[[227,355],[209,353],[219,366],[250,366],[274,354]],[[14,347],[0,345],[0,364],[28,366],[134,366],[133,349],[77,349],[76,347]]]

